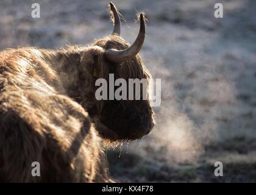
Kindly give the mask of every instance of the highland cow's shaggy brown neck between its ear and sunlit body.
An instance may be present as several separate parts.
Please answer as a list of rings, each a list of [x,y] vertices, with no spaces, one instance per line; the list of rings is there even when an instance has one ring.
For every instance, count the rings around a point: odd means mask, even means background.
[[[90,112],[95,110],[94,95],[90,91],[91,83],[87,82],[82,73],[80,51],[80,48],[53,51],[48,60],[59,77],[59,82],[55,82],[53,87],[82,104]]]

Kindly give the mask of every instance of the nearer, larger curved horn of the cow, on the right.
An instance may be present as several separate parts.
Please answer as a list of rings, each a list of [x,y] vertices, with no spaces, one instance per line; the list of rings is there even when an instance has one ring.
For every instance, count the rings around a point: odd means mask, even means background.
[[[140,32],[136,40],[134,41],[134,43],[129,48],[121,51],[118,51],[116,49],[107,49],[107,51],[105,52],[107,59],[112,62],[121,63],[135,57],[135,55],[138,54],[138,52],[140,51],[143,45],[144,38],[145,38],[145,31],[146,30],[145,30],[144,16],[141,13],[140,14]]]

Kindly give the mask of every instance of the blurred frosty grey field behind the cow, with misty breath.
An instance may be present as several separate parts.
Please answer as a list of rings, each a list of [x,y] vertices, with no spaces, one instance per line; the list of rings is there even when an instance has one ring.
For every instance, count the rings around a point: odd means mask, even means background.
[[[40,4],[41,18],[31,17]],[[141,140],[106,149],[118,182],[256,182],[256,1],[116,0],[121,35],[162,79],[156,126]],[[216,2],[224,18],[213,15]],[[0,1],[0,49],[88,44],[112,32],[108,1]],[[215,177],[214,163],[223,163]]]

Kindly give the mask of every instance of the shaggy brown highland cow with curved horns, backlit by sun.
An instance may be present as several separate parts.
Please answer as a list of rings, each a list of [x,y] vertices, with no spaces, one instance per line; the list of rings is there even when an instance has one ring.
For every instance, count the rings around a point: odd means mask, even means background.
[[[0,52],[0,181],[109,182],[102,140],[135,140],[154,126],[149,100],[97,101],[95,80],[149,79],[140,51],[140,32],[130,46],[113,34],[90,46],[20,48]],[[31,163],[40,163],[40,177]]]

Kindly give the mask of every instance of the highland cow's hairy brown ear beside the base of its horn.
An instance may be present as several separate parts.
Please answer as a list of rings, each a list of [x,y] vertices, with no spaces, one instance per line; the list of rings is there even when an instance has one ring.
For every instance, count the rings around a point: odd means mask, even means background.
[[[102,55],[104,55],[104,49],[99,46],[91,46],[85,48],[80,55],[81,68],[90,76],[96,77],[96,70],[99,68],[98,62],[102,59]]]

